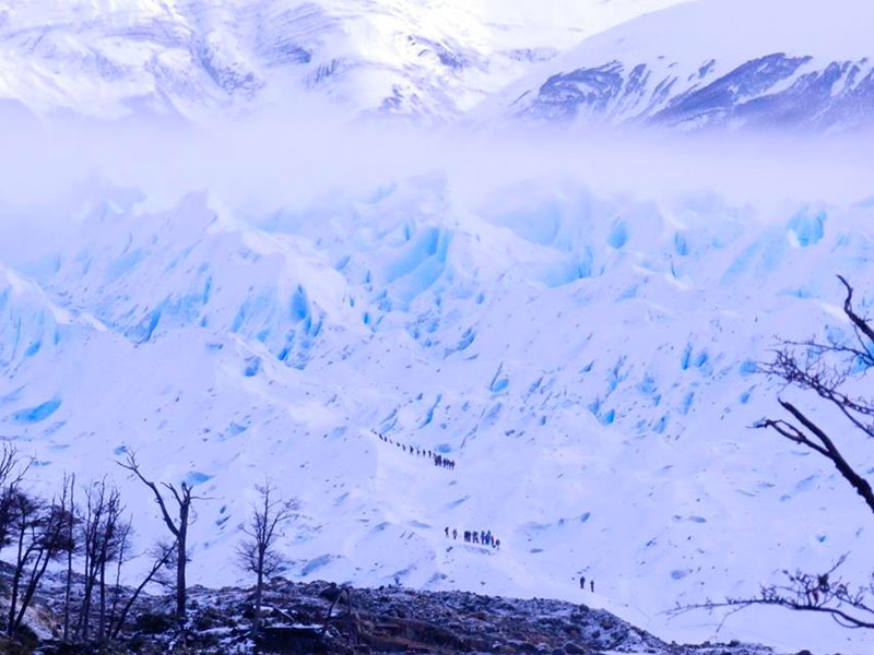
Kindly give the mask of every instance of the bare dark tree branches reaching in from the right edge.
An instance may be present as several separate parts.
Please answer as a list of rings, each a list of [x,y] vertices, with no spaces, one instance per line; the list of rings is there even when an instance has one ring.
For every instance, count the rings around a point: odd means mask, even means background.
[[[841,276],[846,297],[843,313],[849,320],[853,336],[840,340],[831,336],[825,341],[780,340],[771,361],[760,364],[759,372],[783,384],[783,390],[794,388],[818,397],[825,407],[831,407],[845,420],[847,430],[840,432],[847,441],[855,433],[863,439],[874,438],[874,398],[865,398],[852,391],[854,383],[874,371],[874,322],[860,315],[853,308],[853,287]],[[845,444],[836,440],[818,424],[807,409],[778,397],[786,410],[781,418],[764,418],[755,427],[770,430],[830,462],[841,477],[862,498],[874,513],[874,491],[859,466],[843,455]],[[838,575],[847,556],[823,573],[783,571],[786,584],[765,585],[757,596],[728,598],[723,603],[707,602],[690,607],[677,607],[672,614],[689,609],[734,608],[770,605],[792,610],[825,614],[847,628],[874,629],[874,573],[862,584],[851,584]]]

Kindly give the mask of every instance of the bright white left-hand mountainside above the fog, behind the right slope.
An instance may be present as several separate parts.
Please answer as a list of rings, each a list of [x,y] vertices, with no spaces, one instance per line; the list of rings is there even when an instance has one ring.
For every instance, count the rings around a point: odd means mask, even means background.
[[[126,0],[0,7],[0,98],[37,115],[454,118],[535,62],[678,0]]]

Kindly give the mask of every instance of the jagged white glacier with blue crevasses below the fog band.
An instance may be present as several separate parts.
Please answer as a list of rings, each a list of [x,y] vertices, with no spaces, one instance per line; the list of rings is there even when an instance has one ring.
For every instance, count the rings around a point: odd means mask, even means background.
[[[846,484],[748,426],[773,408],[751,360],[775,332],[848,333],[832,272],[874,302],[870,204],[534,182],[454,199],[434,177],[244,222],[203,193],[143,213],[98,189],[76,236],[0,246],[17,269],[0,278],[0,433],[46,488],[127,449],[199,484],[192,580],[209,584],[240,576],[265,473],[304,503],[293,576],[581,599],[669,639],[719,622],[668,621],[675,602],[845,550],[865,569],[870,519]],[[161,524],[126,485],[146,541]],[[445,526],[492,529],[501,550]],[[864,652],[782,614],[719,636]]]

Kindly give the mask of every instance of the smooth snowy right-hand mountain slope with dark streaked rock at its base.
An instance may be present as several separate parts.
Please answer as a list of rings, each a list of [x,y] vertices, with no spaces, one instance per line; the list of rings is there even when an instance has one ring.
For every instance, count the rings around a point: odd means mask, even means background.
[[[839,130],[874,115],[874,5],[702,0],[586,39],[472,116],[683,130]]]

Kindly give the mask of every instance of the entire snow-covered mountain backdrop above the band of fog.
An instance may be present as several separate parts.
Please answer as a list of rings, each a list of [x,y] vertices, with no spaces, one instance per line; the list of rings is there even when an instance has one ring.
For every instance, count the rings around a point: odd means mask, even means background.
[[[846,130],[870,127],[873,19],[859,0],[14,2],[0,116]]]

